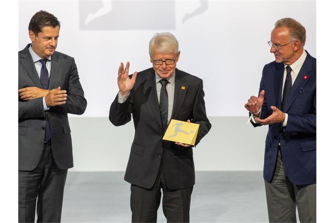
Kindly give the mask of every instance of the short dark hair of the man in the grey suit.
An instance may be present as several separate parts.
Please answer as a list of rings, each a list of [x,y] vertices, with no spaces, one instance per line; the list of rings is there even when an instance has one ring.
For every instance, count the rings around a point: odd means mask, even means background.
[[[31,17],[28,30],[34,32],[35,35],[38,35],[39,32],[42,32],[42,28],[46,26],[51,26],[53,28],[58,26],[61,28],[60,22],[53,14],[41,10]]]

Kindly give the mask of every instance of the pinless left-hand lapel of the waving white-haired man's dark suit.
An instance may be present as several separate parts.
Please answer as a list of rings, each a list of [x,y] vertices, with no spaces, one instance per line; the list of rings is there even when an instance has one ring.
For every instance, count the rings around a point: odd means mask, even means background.
[[[156,91],[156,81],[155,81],[155,73],[153,69],[150,69],[147,76],[146,82],[144,84],[144,94],[147,96],[148,101],[150,103],[151,109],[153,111],[154,116],[163,131],[162,118],[160,116],[160,109],[157,99],[157,91]]]

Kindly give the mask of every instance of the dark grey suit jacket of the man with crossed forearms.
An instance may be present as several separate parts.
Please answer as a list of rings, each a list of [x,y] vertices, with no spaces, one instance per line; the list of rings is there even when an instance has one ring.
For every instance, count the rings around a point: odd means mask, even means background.
[[[28,44],[18,52],[18,89],[43,88]],[[64,105],[50,107],[44,111],[43,98],[24,101],[18,96],[18,168],[20,171],[34,170],[42,155],[46,117],[51,126],[51,147],[60,169],[73,167],[71,130],[67,113],[83,114],[86,109],[84,91],[79,82],[77,67],[72,57],[55,51],[51,57],[49,89],[61,87],[67,91]]]

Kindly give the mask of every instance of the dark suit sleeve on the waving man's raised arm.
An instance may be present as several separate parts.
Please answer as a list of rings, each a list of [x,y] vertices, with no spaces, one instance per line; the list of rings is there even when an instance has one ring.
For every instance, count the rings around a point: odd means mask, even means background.
[[[124,103],[118,103],[118,94],[109,109],[109,120],[115,126],[124,125],[131,120],[133,111],[133,92],[130,91],[128,99]]]

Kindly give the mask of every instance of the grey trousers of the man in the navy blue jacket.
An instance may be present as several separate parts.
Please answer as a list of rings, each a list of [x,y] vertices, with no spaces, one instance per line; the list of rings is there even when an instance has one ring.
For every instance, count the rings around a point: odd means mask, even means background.
[[[269,222],[296,222],[296,207],[300,222],[316,222],[316,184],[292,184],[285,174],[280,150],[273,180],[264,182]]]

